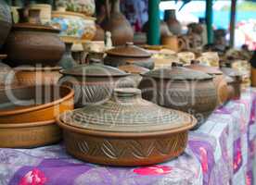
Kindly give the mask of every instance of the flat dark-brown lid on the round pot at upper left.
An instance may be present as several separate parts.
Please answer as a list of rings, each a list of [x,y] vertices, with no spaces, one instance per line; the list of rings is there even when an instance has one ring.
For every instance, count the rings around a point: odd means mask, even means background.
[[[31,23],[17,23],[12,26],[12,29],[14,29],[15,31],[48,31],[57,33],[60,31],[51,26],[44,26]]]

